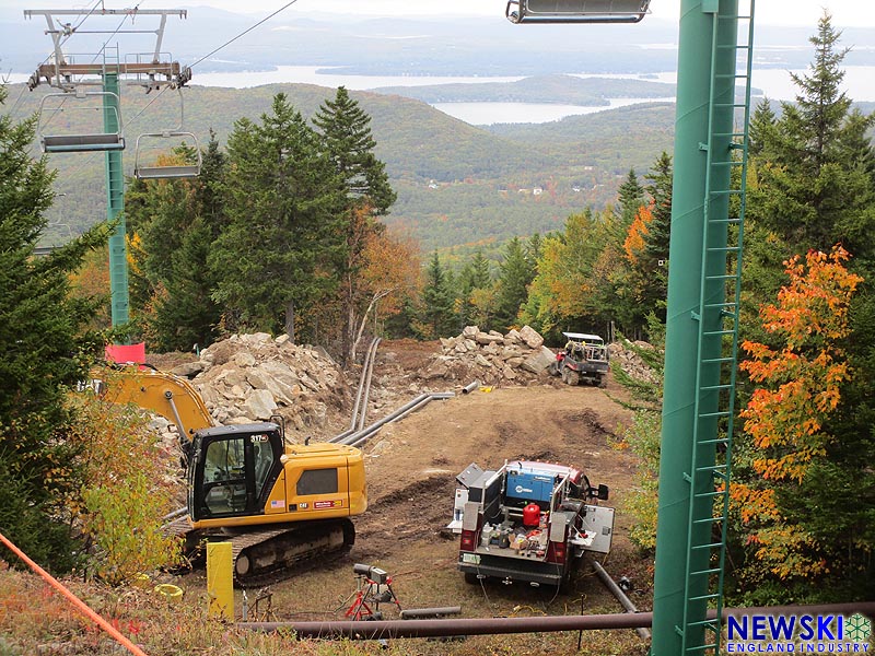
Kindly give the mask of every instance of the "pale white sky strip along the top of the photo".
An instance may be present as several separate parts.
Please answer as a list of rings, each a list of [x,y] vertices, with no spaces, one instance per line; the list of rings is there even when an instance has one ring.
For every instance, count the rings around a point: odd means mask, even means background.
[[[9,7],[22,9],[56,9],[59,7],[85,8],[89,0],[2,0]],[[140,0],[143,9],[174,9],[207,5],[234,12],[267,15],[289,0]],[[747,8],[750,0],[739,0]],[[124,8],[133,0],[106,0],[107,8]],[[677,20],[680,0],[651,0],[653,16]],[[243,5],[243,7],[242,7]],[[332,12],[348,15],[503,15],[505,0],[296,0],[283,12]],[[757,24],[813,26],[822,9],[829,10],[833,25],[839,27],[875,26],[875,2],[870,0],[759,0],[756,5]]]

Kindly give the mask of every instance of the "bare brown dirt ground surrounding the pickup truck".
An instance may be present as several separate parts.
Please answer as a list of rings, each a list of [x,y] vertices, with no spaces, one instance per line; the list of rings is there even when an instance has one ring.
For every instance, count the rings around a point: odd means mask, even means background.
[[[374,370],[374,385],[394,384],[392,394],[397,395],[399,407],[420,394],[413,383],[415,373],[439,351],[436,342],[384,342]],[[431,382],[430,389],[440,390],[440,383]],[[631,412],[615,400],[625,396],[623,390],[612,380],[606,388],[569,387],[557,378],[545,377],[526,386],[480,388],[464,395],[458,388],[455,391],[458,394],[452,399],[433,400],[384,426],[363,445],[369,509],[354,518],[354,547],[339,562],[276,584],[271,590],[271,619],[343,619],[355,586],[354,563],[389,572],[404,608],[458,605],[462,616],[471,618],[622,612],[588,564],[564,595],[525,584],[464,582],[456,570],[458,538],[443,530],[453,518],[455,477],[471,462],[487,469],[515,458],[572,465],[581,468],[592,484],[610,488],[607,504],[617,508],[615,538],[611,553],[598,560],[615,579],[627,576],[632,581],[630,597],[640,610],[651,608],[651,563],[629,542],[629,518],[622,512],[635,462],[628,452],[612,446],[615,436],[631,421]],[[369,417],[369,423],[374,419]],[[396,611],[388,608],[385,619],[397,618]],[[609,632],[592,634],[596,633]],[[645,643],[634,632],[622,632],[617,642],[619,633],[612,632],[612,636],[604,639],[606,642],[591,642],[590,649],[581,653],[645,651]],[[478,640],[488,653],[497,653],[494,641],[501,639]],[[501,648],[508,649],[504,640]],[[568,635],[562,640],[565,645],[573,642]],[[518,648],[529,654],[539,653],[540,644],[547,648],[547,643],[530,643],[523,637],[518,641]],[[417,651],[467,654],[472,648],[468,644],[453,649],[443,645]],[[569,653],[564,647],[559,652]],[[511,653],[516,653],[516,647]]]

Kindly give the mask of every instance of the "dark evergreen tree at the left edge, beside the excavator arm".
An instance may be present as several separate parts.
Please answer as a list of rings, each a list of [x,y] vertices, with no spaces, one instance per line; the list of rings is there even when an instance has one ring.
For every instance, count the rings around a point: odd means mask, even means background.
[[[0,104],[5,97],[0,86]],[[35,126],[0,115],[0,526],[31,558],[63,571],[73,564],[66,502],[80,484],[65,397],[103,347],[85,330],[96,303],[72,298],[69,277],[112,231],[102,224],[34,257],[55,177],[30,155]]]

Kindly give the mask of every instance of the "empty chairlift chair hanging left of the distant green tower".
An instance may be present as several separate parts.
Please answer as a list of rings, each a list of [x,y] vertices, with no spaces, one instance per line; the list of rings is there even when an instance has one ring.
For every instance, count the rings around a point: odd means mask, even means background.
[[[59,105],[54,110],[49,110],[46,108],[46,101],[51,97],[62,97],[63,101],[61,105]],[[77,99],[77,101],[91,101],[95,97],[101,97],[102,102],[100,105],[88,105],[88,106],[71,106],[71,107],[63,107],[63,104],[67,103],[69,99]],[[106,103],[107,98],[115,98],[115,103]],[[118,95],[109,91],[79,91],[77,90],[75,93],[65,92],[65,93],[48,93],[43,96],[43,99],[39,101],[39,122],[37,126],[37,133],[39,134],[39,147],[42,148],[44,153],[81,153],[81,152],[93,152],[93,151],[115,151],[115,150],[124,150],[125,149],[125,136],[121,131],[121,116],[118,113],[118,105],[119,99]],[[102,117],[105,117],[107,112],[115,117],[115,125],[117,126],[116,130],[102,130],[100,132],[92,131],[85,133],[65,133],[65,134],[51,134],[48,132],[49,124],[51,122],[51,118],[58,112],[66,112],[68,109],[79,109],[79,110],[97,110],[101,113]],[[46,114],[48,112],[52,113],[51,117],[46,118]],[[105,121],[105,124],[112,125],[113,121]],[[104,125],[105,125],[104,124]]]

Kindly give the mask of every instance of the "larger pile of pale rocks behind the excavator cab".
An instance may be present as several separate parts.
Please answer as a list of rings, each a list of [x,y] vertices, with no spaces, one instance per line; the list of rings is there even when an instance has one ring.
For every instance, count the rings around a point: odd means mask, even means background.
[[[292,441],[342,423],[351,408],[350,386],[334,360],[288,336],[233,335],[173,373],[191,378],[217,424],[280,414]]]

